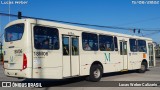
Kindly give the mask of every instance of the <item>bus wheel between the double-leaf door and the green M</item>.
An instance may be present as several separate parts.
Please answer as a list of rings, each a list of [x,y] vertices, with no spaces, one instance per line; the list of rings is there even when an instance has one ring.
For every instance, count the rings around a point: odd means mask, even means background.
[[[102,67],[101,65],[92,65],[90,68],[90,75],[86,78],[88,81],[98,82],[102,77]]]

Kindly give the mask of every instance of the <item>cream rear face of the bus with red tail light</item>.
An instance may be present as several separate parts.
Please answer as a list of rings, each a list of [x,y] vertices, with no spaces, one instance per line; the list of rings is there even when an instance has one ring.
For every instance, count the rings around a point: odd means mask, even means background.
[[[25,24],[18,23],[5,28],[4,73],[7,76],[30,77],[27,61]],[[27,72],[27,73],[26,73]],[[30,75],[29,75],[30,74]]]

